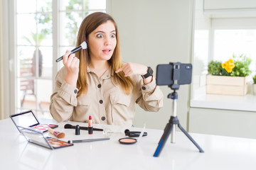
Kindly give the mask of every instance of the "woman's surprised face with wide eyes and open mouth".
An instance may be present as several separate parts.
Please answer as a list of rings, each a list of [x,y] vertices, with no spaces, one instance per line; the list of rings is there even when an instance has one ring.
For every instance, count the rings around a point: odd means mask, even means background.
[[[102,23],[89,34],[88,46],[91,60],[110,60],[116,45],[116,30],[112,21]]]

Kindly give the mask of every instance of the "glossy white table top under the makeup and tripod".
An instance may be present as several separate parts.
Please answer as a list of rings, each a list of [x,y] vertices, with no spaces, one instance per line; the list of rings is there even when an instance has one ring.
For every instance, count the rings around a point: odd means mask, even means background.
[[[47,122],[47,123],[52,123]],[[63,140],[104,137],[94,131],[64,129],[64,125],[87,126],[87,123],[58,123]],[[125,127],[94,125],[114,132],[110,140],[75,143],[73,147],[50,150],[28,143],[11,119],[0,120],[0,169],[256,169],[256,140],[191,134],[205,153],[200,153],[182,132],[176,132],[176,143],[166,142],[159,157],[153,157],[164,130],[146,129],[148,136],[134,145],[121,145]],[[142,130],[129,128],[129,130]],[[48,132],[46,132],[46,135]]]

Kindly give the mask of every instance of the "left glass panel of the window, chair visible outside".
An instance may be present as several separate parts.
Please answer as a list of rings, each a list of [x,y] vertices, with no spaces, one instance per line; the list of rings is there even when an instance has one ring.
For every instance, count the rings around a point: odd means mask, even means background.
[[[52,18],[53,8],[49,0],[16,1],[18,111],[48,111],[53,75]]]

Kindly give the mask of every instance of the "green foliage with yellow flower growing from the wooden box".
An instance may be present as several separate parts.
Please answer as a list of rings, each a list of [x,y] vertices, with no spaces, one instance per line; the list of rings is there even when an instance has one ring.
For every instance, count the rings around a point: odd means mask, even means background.
[[[250,63],[252,60],[245,55],[233,55],[233,60],[221,63],[220,61],[211,61],[208,64],[208,74],[218,76],[247,77],[251,74]],[[227,67],[228,64],[228,67]],[[231,67],[233,64],[235,67]]]

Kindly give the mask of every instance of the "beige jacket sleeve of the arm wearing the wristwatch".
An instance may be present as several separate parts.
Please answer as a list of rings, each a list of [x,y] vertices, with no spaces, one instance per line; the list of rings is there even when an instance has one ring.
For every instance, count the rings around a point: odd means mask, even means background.
[[[143,79],[139,79],[135,86],[138,91],[137,93],[139,93],[136,103],[139,104],[144,111],[157,112],[163,107],[164,96],[159,86],[156,86],[156,79],[154,79],[154,77],[152,81],[146,85]]]

